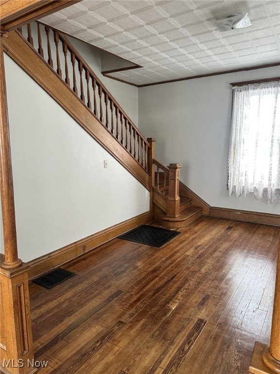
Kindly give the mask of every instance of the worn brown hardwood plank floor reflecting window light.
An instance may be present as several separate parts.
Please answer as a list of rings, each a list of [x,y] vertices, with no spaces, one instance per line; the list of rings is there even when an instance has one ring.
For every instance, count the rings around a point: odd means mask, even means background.
[[[161,248],[114,239],[30,282],[39,374],[247,374],[270,339],[279,227],[210,217]]]

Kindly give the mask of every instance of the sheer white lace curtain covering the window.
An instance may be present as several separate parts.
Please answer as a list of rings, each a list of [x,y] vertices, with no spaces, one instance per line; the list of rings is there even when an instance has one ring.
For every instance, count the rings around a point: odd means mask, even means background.
[[[233,87],[228,190],[280,199],[280,82]]]

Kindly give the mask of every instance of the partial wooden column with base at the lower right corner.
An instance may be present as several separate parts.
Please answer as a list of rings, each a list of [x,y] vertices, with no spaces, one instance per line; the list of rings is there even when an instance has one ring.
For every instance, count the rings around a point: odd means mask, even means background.
[[[249,371],[252,374],[280,373],[280,237],[270,346],[255,343]]]

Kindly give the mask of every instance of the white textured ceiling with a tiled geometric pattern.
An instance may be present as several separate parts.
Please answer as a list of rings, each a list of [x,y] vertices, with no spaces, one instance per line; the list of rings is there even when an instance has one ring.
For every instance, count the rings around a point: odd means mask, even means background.
[[[83,0],[41,21],[141,65],[112,74],[136,85],[280,63],[280,0]]]

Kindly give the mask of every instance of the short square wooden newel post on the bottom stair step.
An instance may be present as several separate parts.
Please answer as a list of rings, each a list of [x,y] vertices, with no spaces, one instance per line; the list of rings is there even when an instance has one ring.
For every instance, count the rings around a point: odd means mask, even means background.
[[[170,164],[169,168],[169,192],[167,198],[167,215],[177,217],[180,214],[179,178],[180,164]]]

